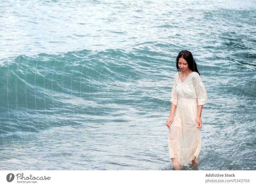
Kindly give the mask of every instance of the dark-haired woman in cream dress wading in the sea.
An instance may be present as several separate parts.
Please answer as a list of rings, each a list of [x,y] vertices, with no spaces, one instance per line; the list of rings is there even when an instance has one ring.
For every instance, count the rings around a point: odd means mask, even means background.
[[[185,164],[199,163],[201,112],[207,103],[207,93],[190,51],[180,51],[176,67],[166,126],[169,156],[174,169],[179,170]]]

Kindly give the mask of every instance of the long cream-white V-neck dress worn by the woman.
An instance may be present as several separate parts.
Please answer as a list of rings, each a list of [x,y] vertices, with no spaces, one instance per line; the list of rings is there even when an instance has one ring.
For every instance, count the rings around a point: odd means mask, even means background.
[[[181,166],[199,163],[201,150],[200,129],[197,127],[197,105],[207,103],[207,92],[201,77],[192,72],[182,83],[179,72],[174,76],[170,101],[176,105],[173,122],[168,128],[168,150],[170,158],[178,158]]]

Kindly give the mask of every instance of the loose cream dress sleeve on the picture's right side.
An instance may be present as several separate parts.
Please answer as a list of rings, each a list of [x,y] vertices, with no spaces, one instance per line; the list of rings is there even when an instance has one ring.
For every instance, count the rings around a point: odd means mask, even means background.
[[[207,92],[204,87],[204,83],[202,81],[202,78],[198,73],[195,73],[195,77],[193,80],[193,84],[196,90],[196,95],[197,95],[197,105],[204,105],[207,102]]]

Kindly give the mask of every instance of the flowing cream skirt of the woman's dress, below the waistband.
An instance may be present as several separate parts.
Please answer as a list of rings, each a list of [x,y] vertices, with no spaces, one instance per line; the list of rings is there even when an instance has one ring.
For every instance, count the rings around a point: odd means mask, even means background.
[[[195,159],[199,163],[201,150],[200,128],[197,127],[197,99],[178,98],[173,122],[168,128],[168,150],[170,158],[178,158],[181,166]]]

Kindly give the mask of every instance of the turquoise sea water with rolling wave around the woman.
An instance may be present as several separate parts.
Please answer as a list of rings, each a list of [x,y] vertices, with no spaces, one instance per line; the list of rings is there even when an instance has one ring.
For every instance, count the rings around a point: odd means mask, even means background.
[[[254,1],[3,1],[1,170],[172,170],[175,59],[208,93],[198,167],[256,168]]]

